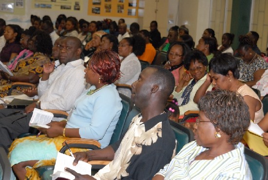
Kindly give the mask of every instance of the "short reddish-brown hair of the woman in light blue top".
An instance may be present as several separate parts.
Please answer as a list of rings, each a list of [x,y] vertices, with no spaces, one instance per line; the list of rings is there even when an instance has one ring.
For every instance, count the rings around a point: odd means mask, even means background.
[[[112,50],[95,52],[91,57],[91,68],[101,76],[103,84],[114,83],[120,78],[120,59]]]

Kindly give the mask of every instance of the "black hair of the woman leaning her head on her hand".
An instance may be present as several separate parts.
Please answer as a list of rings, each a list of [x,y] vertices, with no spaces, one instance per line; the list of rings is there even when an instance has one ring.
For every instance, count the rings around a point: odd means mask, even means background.
[[[236,60],[229,53],[222,53],[210,60],[209,71],[221,74],[223,76],[228,75],[228,71],[231,71],[235,79],[239,79],[238,60]]]

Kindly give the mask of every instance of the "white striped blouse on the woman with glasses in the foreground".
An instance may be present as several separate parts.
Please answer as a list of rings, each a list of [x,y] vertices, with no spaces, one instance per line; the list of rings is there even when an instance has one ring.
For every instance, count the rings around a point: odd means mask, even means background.
[[[165,180],[252,180],[244,145],[239,142],[235,148],[213,160],[194,160],[207,148],[192,141],[157,175],[164,176]]]

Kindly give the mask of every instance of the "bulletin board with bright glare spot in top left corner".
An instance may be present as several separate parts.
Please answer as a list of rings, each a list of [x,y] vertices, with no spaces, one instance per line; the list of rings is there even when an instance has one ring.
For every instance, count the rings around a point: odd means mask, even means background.
[[[25,15],[25,0],[0,0],[0,14]]]

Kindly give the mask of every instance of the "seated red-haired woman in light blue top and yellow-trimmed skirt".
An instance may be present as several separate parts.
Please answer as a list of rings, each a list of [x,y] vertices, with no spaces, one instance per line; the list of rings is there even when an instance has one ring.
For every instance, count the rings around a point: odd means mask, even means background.
[[[76,100],[67,121],[52,121],[48,124],[50,128],[39,129],[45,135],[17,139],[12,143],[8,156],[19,180],[24,180],[25,175],[38,180],[34,168],[54,164],[62,142],[68,138],[98,140],[101,148],[109,144],[122,109],[113,84],[120,77],[120,59],[111,50],[96,52],[85,73],[86,82],[92,86]],[[26,166],[33,169],[25,169]]]

